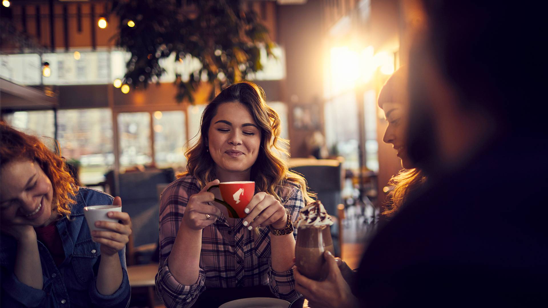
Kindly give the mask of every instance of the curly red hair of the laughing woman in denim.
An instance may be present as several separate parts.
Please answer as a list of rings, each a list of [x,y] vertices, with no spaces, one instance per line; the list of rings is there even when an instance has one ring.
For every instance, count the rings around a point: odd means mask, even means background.
[[[64,159],[50,151],[36,136],[19,132],[4,122],[0,122],[0,145],[0,168],[20,159],[37,162],[52,181],[52,211],[68,217],[72,204],[76,203],[73,197],[78,186],[68,173]]]

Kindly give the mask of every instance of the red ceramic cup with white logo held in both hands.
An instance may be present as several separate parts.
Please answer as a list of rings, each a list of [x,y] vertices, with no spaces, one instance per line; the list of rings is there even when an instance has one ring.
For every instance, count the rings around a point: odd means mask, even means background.
[[[229,210],[230,218],[245,218],[247,216],[243,210],[246,209],[249,201],[255,195],[255,182],[222,182],[219,185],[209,187],[207,191],[215,187],[219,187],[221,196],[224,199],[215,198],[215,201],[221,203]]]

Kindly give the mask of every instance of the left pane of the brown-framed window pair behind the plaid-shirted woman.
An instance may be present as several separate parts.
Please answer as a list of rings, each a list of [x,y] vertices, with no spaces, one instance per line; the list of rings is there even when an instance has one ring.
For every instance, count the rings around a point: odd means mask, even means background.
[[[120,166],[128,167],[152,162],[150,113],[118,114]]]

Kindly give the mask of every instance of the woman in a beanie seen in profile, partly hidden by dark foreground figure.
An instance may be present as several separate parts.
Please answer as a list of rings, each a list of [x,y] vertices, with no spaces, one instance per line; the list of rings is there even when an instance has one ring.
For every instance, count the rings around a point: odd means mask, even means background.
[[[406,201],[410,192],[418,189],[426,180],[424,173],[415,168],[407,155],[407,72],[405,67],[400,67],[386,81],[379,94],[378,104],[384,110],[388,127],[384,133],[383,141],[392,144],[397,156],[402,161],[404,168],[390,179],[392,185],[390,201],[383,214],[393,216]]]

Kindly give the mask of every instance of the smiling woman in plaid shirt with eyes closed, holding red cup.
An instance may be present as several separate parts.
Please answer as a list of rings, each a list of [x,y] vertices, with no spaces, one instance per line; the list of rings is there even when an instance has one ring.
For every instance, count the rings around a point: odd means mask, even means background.
[[[299,296],[292,221],[312,196],[279,157],[279,133],[279,117],[254,83],[233,84],[206,106],[198,142],[186,153],[187,172],[161,197],[156,287],[166,306]],[[244,219],[229,218],[213,202],[222,199],[219,191],[207,191],[227,181],[255,181]]]

